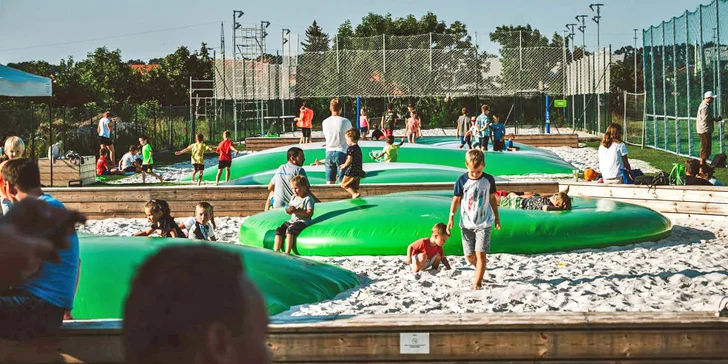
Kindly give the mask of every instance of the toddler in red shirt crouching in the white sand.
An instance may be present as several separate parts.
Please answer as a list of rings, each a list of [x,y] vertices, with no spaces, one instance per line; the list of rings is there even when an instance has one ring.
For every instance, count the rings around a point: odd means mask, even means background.
[[[407,247],[407,259],[405,263],[412,266],[412,271],[417,273],[432,267],[437,269],[440,263],[445,269],[450,269],[450,262],[445,257],[442,246],[445,245],[450,235],[447,233],[447,226],[439,222],[432,227],[432,236],[415,241]]]

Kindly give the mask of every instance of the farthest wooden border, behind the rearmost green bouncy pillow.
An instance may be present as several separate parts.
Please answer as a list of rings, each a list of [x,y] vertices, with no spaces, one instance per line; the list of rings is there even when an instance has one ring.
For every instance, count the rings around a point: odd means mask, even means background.
[[[453,137],[453,140],[455,140],[455,137]],[[259,152],[266,149],[297,144],[298,141],[299,138],[247,138],[245,139],[245,149],[251,152]],[[313,138],[314,143],[323,141],[324,138]],[[565,146],[576,148],[579,146],[579,137],[576,134],[524,134],[516,135],[515,141],[534,147]]]

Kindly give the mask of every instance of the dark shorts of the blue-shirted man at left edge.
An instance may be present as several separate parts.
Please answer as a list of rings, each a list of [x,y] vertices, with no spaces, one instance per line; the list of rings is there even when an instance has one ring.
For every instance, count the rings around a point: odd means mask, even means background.
[[[61,328],[65,309],[25,291],[0,296],[0,338],[29,340],[52,335]]]

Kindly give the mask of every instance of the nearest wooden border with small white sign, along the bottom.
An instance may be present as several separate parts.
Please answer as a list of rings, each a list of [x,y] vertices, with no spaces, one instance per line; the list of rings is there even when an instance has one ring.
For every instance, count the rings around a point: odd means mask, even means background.
[[[66,323],[56,344],[84,362],[123,362],[118,320]],[[713,312],[273,318],[268,346],[276,363],[728,363],[728,318]]]

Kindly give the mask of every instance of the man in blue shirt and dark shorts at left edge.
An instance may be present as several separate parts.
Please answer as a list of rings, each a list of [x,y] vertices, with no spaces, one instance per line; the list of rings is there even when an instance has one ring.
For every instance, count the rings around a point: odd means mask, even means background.
[[[5,179],[2,188],[13,203],[37,199],[50,206],[65,209],[61,202],[43,193],[40,171],[34,161],[25,158],[8,161],[2,173]],[[59,230],[55,223],[40,228],[34,221],[29,220],[27,224],[34,225],[39,234],[58,234],[61,231],[67,235],[69,233],[65,228]],[[44,261],[28,279],[8,290],[0,287],[3,290],[0,293],[0,338],[27,340],[52,334],[61,327],[64,313],[73,308],[79,267],[76,232],[71,232],[67,239],[70,244],[66,249],[58,251],[55,262]]]

